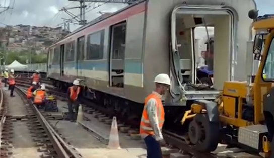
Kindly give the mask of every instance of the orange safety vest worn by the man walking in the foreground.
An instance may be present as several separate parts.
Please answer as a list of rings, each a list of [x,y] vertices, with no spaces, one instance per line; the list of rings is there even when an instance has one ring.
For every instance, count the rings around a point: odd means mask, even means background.
[[[148,112],[147,112],[147,103],[151,98],[154,98],[157,102],[156,107],[157,107],[157,116],[158,116],[160,129],[162,129],[163,124],[165,122],[165,111],[164,111],[164,106],[162,104],[162,100],[156,94],[151,93],[145,99],[145,106],[144,106],[144,110],[143,110],[143,114],[140,122],[140,134],[155,135],[153,128],[151,127]]]

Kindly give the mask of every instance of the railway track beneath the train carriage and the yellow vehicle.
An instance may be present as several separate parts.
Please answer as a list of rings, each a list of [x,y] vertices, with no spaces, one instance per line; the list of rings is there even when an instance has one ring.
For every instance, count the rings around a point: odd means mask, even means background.
[[[18,83],[18,85],[22,86],[22,87],[29,87],[29,81],[26,81],[29,79],[25,79],[25,78],[21,78],[21,80]],[[59,99],[61,100],[65,100],[66,98],[66,93],[65,92],[61,92],[60,90],[58,90],[57,88],[55,88],[54,86],[51,85],[47,85],[47,89],[50,91],[51,94],[54,94],[56,96],[59,97]],[[83,105],[83,112],[86,114],[93,114],[97,119],[100,120],[100,122],[105,123],[105,124],[109,124],[111,117],[114,114],[110,114],[106,111],[104,111],[104,109],[92,102],[92,100],[90,99],[83,99],[82,100],[82,105]],[[119,127],[119,124],[121,125]],[[122,133],[126,133],[127,135],[132,136],[132,139],[138,139],[136,136],[139,132],[138,129],[136,128],[132,128],[132,126],[130,125],[130,123],[126,124],[124,121],[118,122],[118,128],[119,131]],[[88,129],[88,127],[86,127],[84,124],[80,124],[83,126],[84,129],[90,130]],[[230,157],[227,155],[227,153],[234,153],[234,152],[242,152],[243,150],[239,150],[238,148],[226,148],[224,145],[221,145],[221,149],[217,149],[214,153],[202,153],[202,152],[198,152],[194,149],[193,146],[189,145],[188,141],[180,136],[179,134],[176,134],[176,132],[170,132],[168,130],[164,130],[163,131],[163,135],[164,138],[166,140],[166,142],[168,143],[167,147],[167,152],[166,155],[167,157],[169,157],[169,151],[172,151],[175,156],[176,154],[181,154],[184,155],[184,157],[204,157],[204,158],[225,158],[225,157]],[[98,139],[100,141],[102,141],[102,139],[99,135],[97,135]],[[240,154],[241,155],[241,154]],[[233,157],[246,157],[245,154],[243,154],[244,156],[233,156]],[[253,156],[252,156],[253,157]],[[254,156],[257,157],[257,156]]]

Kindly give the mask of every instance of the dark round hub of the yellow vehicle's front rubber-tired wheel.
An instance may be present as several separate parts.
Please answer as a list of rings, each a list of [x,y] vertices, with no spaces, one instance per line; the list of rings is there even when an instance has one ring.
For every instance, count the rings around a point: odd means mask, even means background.
[[[196,144],[201,136],[201,128],[195,120],[191,121],[188,126],[188,137],[192,144]]]

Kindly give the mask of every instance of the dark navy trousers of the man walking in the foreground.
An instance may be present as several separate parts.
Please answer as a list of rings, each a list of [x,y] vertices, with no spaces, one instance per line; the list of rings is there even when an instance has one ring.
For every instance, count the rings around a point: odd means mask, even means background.
[[[161,146],[154,136],[149,135],[145,139],[147,146],[147,158],[162,158]]]

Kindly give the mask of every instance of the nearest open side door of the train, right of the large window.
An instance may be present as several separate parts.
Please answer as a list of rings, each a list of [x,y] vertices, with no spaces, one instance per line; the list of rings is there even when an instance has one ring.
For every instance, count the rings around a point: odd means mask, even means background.
[[[111,47],[109,53],[109,85],[124,87],[126,22],[111,26]]]

